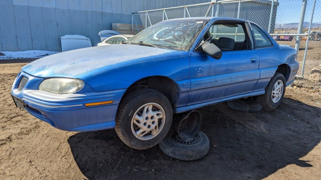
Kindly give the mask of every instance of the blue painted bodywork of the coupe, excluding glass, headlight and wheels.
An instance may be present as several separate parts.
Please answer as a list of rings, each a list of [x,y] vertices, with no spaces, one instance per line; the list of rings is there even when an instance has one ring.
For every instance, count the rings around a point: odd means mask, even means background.
[[[12,94],[26,103],[30,114],[58,129],[94,131],[115,127],[118,104],[127,88],[150,76],[167,77],[176,83],[175,113],[264,94],[265,87],[282,64],[288,67],[286,85],[293,82],[299,68],[296,51],[278,45],[270,37],[271,47],[225,51],[220,60],[194,51],[216,20],[236,20],[199,19],[209,22],[189,51],[123,44],[58,53],[24,66],[13,83]],[[18,91],[22,76],[29,81],[22,91]],[[73,94],[40,91],[39,84],[52,77],[79,78],[85,85]],[[85,103],[101,101],[113,103],[85,106]]]

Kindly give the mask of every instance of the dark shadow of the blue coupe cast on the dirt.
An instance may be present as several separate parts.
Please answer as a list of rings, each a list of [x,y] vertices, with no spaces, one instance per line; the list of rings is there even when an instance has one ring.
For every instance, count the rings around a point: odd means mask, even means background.
[[[68,139],[88,179],[262,179],[299,160],[321,139],[321,109],[284,98],[275,110],[244,113],[226,103],[200,109],[201,131],[210,151],[201,160],[180,161],[162,153],[127,147],[114,129],[80,132]]]

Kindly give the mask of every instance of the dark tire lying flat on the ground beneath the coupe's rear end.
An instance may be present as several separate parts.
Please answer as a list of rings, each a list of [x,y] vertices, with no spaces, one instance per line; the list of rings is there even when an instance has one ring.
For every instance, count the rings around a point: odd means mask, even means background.
[[[240,112],[257,112],[263,108],[262,105],[257,101],[256,97],[228,101],[227,105],[231,109]]]

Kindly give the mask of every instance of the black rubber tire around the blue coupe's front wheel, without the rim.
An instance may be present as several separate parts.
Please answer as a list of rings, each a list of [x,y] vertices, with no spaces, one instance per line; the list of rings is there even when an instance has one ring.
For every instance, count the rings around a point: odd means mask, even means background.
[[[131,122],[134,112],[142,105],[154,102],[165,111],[166,118],[163,129],[150,140],[140,140],[132,132]],[[173,110],[169,100],[160,92],[152,89],[135,90],[124,97],[120,102],[116,119],[116,133],[118,137],[129,147],[134,149],[148,149],[157,145],[169,132],[172,124]]]

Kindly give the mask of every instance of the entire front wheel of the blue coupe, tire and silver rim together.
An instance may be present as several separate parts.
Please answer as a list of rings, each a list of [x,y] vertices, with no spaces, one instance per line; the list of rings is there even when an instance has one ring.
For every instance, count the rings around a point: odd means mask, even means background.
[[[155,146],[172,124],[173,110],[169,100],[152,89],[140,89],[126,95],[118,109],[116,133],[134,149]]]

